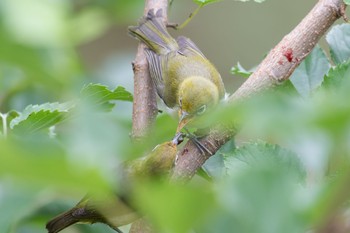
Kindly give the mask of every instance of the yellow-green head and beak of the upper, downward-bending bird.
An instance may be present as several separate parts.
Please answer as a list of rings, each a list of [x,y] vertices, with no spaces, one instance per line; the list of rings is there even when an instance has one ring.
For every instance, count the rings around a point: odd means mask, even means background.
[[[186,78],[179,86],[179,132],[186,124],[213,108],[219,102],[219,90],[215,84],[201,76]]]

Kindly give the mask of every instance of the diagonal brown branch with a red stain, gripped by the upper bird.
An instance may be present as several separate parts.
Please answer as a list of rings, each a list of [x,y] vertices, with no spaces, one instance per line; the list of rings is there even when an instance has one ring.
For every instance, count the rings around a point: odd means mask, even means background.
[[[343,0],[320,0],[299,25],[286,35],[261,62],[256,71],[229,98],[230,103],[243,101],[287,80],[315,47],[321,36],[344,14]],[[213,129],[201,143],[216,152],[237,130],[231,127]],[[210,157],[203,155],[189,141],[178,153],[173,179],[190,179]]]

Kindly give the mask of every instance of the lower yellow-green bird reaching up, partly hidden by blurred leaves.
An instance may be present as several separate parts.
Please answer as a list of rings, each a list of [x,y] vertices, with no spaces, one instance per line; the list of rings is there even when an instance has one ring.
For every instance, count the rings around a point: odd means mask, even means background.
[[[85,196],[75,207],[46,224],[49,233],[57,233],[75,223],[104,223],[117,232],[118,227],[132,223],[140,216],[130,205],[132,185],[143,179],[163,177],[174,165],[177,145],[183,134],[155,147],[148,155],[123,166],[120,192],[117,195]],[[165,176],[166,177],[166,176]]]

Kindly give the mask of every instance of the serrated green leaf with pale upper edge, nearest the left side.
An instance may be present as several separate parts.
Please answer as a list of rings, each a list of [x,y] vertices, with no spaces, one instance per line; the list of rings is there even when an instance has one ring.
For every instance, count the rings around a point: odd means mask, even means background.
[[[10,127],[26,134],[48,129],[62,121],[67,112],[73,107],[73,102],[29,105],[10,122]]]

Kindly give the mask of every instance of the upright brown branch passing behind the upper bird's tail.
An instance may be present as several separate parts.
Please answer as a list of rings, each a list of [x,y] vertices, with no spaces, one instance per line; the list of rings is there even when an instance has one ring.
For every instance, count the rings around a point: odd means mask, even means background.
[[[167,22],[167,0],[146,0],[144,16],[150,9],[155,12],[162,9],[164,22]],[[134,103],[132,113],[132,137],[144,138],[157,116],[156,90],[149,76],[148,64],[144,55],[145,45],[140,43],[136,58],[133,62],[134,70]]]

